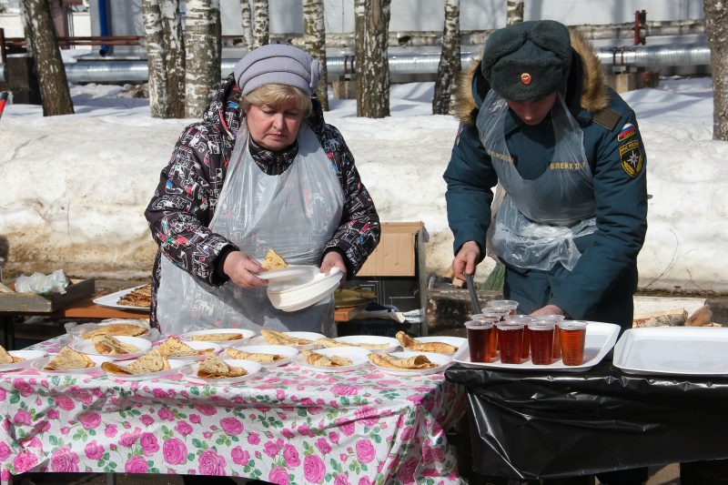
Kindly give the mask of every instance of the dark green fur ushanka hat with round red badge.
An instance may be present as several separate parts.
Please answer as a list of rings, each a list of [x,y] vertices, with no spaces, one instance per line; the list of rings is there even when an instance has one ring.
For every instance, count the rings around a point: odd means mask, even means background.
[[[556,92],[571,67],[571,35],[554,20],[521,22],[489,35],[480,69],[495,92],[536,101]]]

